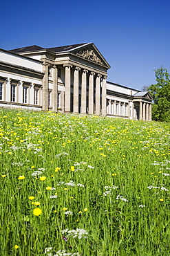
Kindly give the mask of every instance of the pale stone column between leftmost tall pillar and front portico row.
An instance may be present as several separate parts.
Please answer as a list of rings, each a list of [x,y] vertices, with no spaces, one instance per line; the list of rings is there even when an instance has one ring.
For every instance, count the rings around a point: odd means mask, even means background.
[[[58,111],[58,68],[56,65],[53,67],[53,84],[52,84],[52,109]]]

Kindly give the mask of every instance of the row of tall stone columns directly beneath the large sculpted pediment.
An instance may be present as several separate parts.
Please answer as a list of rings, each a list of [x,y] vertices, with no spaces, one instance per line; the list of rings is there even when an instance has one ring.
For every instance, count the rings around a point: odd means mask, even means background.
[[[63,66],[65,67],[64,111],[70,113],[72,110],[74,113],[79,113],[81,106],[81,113],[105,116],[107,77],[71,64]],[[72,73],[73,84],[71,84]]]

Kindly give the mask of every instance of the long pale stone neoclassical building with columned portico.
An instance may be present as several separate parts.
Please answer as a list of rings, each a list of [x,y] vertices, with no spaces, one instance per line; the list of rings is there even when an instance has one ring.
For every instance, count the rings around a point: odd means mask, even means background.
[[[151,95],[107,82],[93,43],[0,49],[0,107],[151,120]]]

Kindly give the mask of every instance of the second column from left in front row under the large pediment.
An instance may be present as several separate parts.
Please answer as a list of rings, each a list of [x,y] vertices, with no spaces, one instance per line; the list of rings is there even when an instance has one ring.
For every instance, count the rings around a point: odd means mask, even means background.
[[[78,91],[79,91],[79,71],[81,68],[74,69],[74,86],[73,86],[73,112],[78,113]]]

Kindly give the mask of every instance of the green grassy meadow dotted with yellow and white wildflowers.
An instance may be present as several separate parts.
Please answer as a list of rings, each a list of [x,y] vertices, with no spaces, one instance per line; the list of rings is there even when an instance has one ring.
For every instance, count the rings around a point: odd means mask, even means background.
[[[1,255],[170,255],[169,128],[0,109]]]

